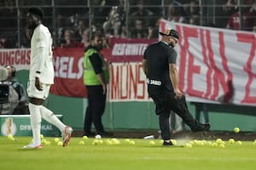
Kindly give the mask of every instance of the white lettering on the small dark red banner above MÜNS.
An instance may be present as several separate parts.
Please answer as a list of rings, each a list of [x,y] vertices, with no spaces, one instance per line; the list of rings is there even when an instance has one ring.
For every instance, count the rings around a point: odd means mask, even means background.
[[[112,55],[143,55],[148,43],[115,43]]]

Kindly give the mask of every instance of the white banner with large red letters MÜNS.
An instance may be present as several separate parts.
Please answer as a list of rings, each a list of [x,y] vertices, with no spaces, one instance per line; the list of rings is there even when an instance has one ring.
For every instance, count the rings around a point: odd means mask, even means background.
[[[113,63],[110,69],[110,101],[148,100],[146,77],[141,63]]]

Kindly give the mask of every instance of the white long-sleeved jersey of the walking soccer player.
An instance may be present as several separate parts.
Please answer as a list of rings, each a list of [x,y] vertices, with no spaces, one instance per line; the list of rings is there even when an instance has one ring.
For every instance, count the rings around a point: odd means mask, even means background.
[[[52,38],[49,29],[40,24],[33,32],[31,40],[29,80],[39,77],[44,84],[54,83],[54,66],[52,57]],[[36,74],[40,71],[40,74]]]

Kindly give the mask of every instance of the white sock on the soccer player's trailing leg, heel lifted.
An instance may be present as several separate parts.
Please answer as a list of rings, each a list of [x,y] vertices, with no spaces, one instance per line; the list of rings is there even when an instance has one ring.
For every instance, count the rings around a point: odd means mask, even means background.
[[[61,132],[64,131],[66,125],[64,125],[60,121],[60,119],[57,116],[55,116],[55,114],[52,111],[49,111],[49,109],[44,107],[44,105],[42,105],[42,107],[40,107],[40,113],[41,113],[41,116],[44,118],[44,120],[55,125],[55,127],[58,127]]]

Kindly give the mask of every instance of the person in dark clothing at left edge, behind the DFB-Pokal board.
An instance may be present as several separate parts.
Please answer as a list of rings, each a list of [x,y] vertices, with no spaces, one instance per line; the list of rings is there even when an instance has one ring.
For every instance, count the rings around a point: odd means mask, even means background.
[[[1,114],[28,114],[27,97],[24,86],[15,79],[16,69],[13,65],[1,68]],[[4,76],[4,72],[5,75]]]

